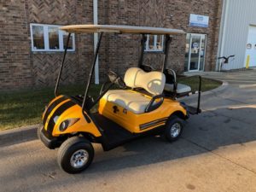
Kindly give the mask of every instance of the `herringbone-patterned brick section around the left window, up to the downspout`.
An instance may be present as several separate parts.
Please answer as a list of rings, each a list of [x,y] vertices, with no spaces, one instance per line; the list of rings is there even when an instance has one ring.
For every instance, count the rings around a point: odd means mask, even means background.
[[[91,1],[50,0],[35,1],[26,0],[27,25],[30,23],[42,23],[49,25],[70,25],[92,22]],[[92,38],[88,35],[76,35],[76,51],[67,53],[67,60],[63,68],[61,80],[63,83],[75,83],[82,81],[85,70],[90,65]],[[83,42],[84,44],[80,44]],[[32,75],[35,86],[49,86],[55,84],[58,69],[63,53],[58,52],[32,52]],[[81,70],[81,68],[83,70]]]

